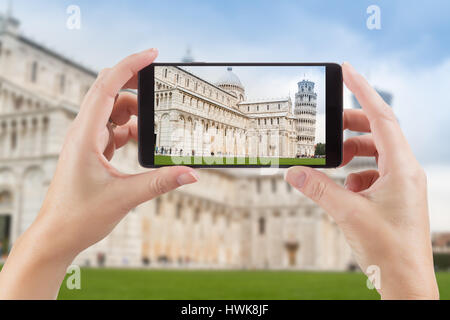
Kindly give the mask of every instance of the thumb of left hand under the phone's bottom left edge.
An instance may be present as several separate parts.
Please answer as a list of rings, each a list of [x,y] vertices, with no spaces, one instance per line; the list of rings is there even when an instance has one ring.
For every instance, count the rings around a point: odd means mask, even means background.
[[[142,202],[197,181],[198,175],[194,169],[175,166],[126,176],[115,183],[119,194],[123,194],[120,200],[125,201],[124,205],[128,209],[132,209]]]

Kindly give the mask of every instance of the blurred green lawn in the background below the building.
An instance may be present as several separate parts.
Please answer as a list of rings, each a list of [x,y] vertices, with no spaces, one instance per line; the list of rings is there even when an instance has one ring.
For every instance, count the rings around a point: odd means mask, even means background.
[[[450,299],[450,273],[438,273]],[[378,299],[361,273],[82,269],[81,290],[59,299]]]

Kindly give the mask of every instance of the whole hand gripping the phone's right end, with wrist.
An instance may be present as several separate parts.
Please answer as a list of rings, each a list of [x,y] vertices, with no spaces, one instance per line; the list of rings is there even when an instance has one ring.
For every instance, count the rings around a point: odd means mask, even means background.
[[[350,64],[342,68],[363,108],[345,110],[344,129],[371,132],[345,141],[342,165],[375,157],[378,170],[350,174],[345,188],[311,168],[292,167],[286,180],[331,215],[363,272],[380,268],[383,299],[438,298],[424,170],[392,109]]]

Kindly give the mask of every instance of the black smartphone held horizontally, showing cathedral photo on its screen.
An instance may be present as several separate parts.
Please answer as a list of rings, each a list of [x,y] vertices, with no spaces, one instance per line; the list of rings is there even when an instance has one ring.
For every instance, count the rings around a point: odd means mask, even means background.
[[[144,167],[332,168],[342,161],[335,63],[154,63],[139,72]]]

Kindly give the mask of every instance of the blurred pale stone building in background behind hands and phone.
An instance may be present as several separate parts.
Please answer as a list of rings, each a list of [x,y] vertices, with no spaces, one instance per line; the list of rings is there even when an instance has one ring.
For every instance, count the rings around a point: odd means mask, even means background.
[[[2,16],[0,26],[0,241],[5,253],[36,217],[65,132],[96,73],[22,36],[13,17]],[[136,144],[117,152],[114,164],[140,170]],[[200,183],[134,209],[76,262],[349,268],[350,250],[335,223],[282,174],[201,170]],[[341,177],[335,178],[342,183]]]

